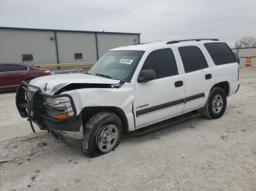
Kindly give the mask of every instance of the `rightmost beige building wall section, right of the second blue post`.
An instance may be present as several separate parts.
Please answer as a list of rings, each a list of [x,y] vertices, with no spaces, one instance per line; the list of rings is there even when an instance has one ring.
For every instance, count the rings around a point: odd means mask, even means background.
[[[139,42],[137,34],[97,34],[97,39],[99,57],[114,47],[137,44]]]

